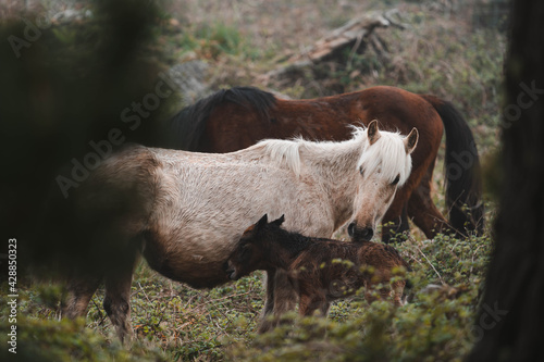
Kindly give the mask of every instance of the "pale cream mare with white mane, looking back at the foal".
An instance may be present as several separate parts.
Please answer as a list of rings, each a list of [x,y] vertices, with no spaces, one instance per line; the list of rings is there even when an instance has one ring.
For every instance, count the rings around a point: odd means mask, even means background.
[[[72,279],[63,314],[85,315],[103,278],[104,310],[123,339],[132,332],[131,283],[139,253],[166,277],[213,287],[228,280],[226,259],[247,225],[264,213],[285,214],[286,229],[316,237],[330,237],[351,221],[354,238],[368,239],[408,179],[417,142],[417,129],[401,137],[373,122],[342,142],[265,140],[224,154],[127,147],[74,192],[85,220],[98,219],[92,225],[107,230],[94,230],[97,237],[115,236],[108,252],[116,255],[109,259],[112,265],[97,265],[103,275]],[[123,192],[134,204],[123,213],[104,212]],[[268,275],[264,314],[279,315],[295,299],[286,279]]]

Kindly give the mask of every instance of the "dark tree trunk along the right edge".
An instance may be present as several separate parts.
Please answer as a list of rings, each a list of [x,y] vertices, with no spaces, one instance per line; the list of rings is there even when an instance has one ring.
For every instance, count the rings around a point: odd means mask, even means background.
[[[495,251],[469,361],[544,361],[544,1],[511,8]]]

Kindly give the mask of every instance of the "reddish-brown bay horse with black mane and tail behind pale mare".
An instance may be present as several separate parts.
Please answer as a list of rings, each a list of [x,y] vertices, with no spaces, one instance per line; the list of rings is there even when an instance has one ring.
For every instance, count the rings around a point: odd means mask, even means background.
[[[350,126],[379,120],[383,129],[420,133],[413,167],[384,217],[382,239],[408,230],[408,217],[433,238],[438,232],[481,234],[483,203],[474,138],[455,107],[433,96],[395,87],[305,100],[284,100],[252,87],[220,90],[189,105],[165,124],[159,147],[196,152],[231,152],[264,138],[301,136],[345,140]],[[445,194],[449,222],[431,197],[432,175],[442,135],[446,133]],[[390,225],[390,226],[387,226]]]

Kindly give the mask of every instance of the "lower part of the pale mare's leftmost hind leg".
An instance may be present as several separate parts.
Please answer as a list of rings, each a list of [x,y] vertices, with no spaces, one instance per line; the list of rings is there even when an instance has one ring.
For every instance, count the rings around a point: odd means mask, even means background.
[[[101,277],[73,276],[67,285],[67,297],[63,302],[61,315],[69,319],[85,316],[90,298],[100,285]]]

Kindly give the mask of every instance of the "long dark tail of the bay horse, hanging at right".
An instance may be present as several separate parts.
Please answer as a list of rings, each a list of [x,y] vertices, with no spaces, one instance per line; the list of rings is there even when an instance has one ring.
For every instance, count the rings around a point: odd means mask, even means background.
[[[483,232],[483,202],[480,159],[474,137],[467,121],[447,101],[434,96],[421,96],[431,103],[446,130],[446,205],[449,224],[456,232]]]

